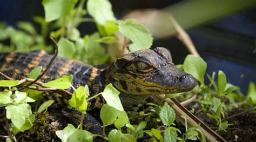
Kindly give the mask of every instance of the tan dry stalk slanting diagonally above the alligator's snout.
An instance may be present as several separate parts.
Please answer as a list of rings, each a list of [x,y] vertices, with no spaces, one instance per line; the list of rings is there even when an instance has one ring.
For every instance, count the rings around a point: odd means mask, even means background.
[[[183,28],[181,28],[179,23],[176,21],[176,19],[174,19],[172,15],[170,15],[170,20],[178,33],[177,37],[181,40],[181,42],[185,44],[188,51],[190,51],[192,55],[200,56],[190,36],[187,35],[186,31]]]

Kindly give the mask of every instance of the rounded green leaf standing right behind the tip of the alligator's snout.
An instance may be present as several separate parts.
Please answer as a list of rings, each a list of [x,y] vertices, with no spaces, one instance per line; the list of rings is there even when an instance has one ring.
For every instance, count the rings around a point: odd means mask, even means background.
[[[190,73],[201,84],[204,84],[206,66],[206,62],[201,57],[188,55],[184,60],[183,69],[185,72]]]

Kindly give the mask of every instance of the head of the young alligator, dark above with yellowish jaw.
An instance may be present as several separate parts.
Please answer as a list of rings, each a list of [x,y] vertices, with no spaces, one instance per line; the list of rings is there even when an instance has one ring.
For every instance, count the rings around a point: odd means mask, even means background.
[[[144,49],[124,55],[110,66],[108,80],[121,94],[129,94],[126,95],[128,98],[120,96],[123,105],[141,102],[125,101],[132,97],[142,99],[152,94],[186,92],[197,85],[193,76],[172,63],[171,53],[165,48]]]

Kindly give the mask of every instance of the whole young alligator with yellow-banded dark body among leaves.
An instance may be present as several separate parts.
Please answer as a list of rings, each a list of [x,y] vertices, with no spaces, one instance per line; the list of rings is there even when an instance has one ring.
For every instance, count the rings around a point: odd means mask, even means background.
[[[14,79],[22,79],[36,66],[43,66],[44,69],[51,57],[42,51],[3,53],[0,55],[0,71]],[[57,57],[41,81],[49,82],[63,75],[73,75],[73,86],[87,84],[91,96],[102,92],[107,84],[112,83],[120,91],[119,97],[124,106],[139,104],[153,94],[190,91],[197,85],[194,77],[172,63],[171,53],[165,48],[126,54],[106,69]],[[101,96],[91,99],[89,113],[103,104]],[[96,122],[89,114],[85,119],[87,123]],[[98,133],[98,129],[97,124],[90,126],[89,131]]]

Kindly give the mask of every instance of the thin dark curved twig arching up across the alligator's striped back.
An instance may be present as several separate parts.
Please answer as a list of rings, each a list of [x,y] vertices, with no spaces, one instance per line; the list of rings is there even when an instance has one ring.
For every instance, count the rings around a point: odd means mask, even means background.
[[[57,55],[58,55],[58,45],[57,45],[57,43],[55,42],[55,40],[52,37],[50,37],[50,39],[51,39],[52,44],[55,47],[55,54],[52,56],[49,64],[46,66],[46,69],[33,82],[31,82],[29,84],[26,84],[25,86],[19,88],[18,91],[21,91],[21,90],[25,89],[26,87],[31,86],[32,84],[36,83],[39,79],[41,79],[44,76],[44,74],[46,73],[46,71],[48,71],[48,69],[52,65],[53,61],[55,60],[55,58],[57,57]]]

